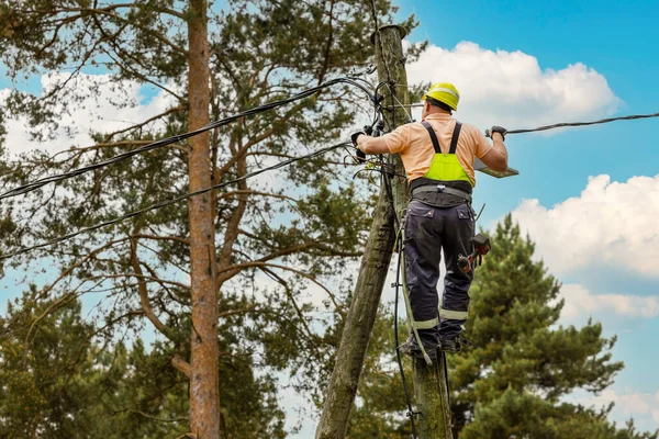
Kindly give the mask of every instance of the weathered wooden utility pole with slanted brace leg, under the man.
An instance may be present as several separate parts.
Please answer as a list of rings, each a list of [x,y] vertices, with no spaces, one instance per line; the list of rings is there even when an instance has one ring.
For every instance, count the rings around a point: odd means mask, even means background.
[[[376,45],[379,81],[387,81],[391,86],[391,88],[384,86],[380,89],[384,97],[383,116],[387,126],[391,130],[409,122],[402,106],[409,103],[407,75],[401,43],[404,35],[403,27],[387,25],[380,27],[371,37]],[[404,175],[400,156],[393,157],[393,164],[395,173]],[[407,182],[405,179],[393,178],[391,183],[395,214],[402,218],[407,206]],[[383,184],[380,188],[370,235],[361,258],[359,277],[346,317],[336,364],[325,394],[316,439],[339,439],[346,435],[348,417],[357,394],[368,339],[391,262],[396,232],[394,210]],[[453,439],[444,362],[436,361],[436,364],[427,365],[423,359],[413,361],[414,395],[417,412],[421,412],[421,415],[415,418],[418,439]]]

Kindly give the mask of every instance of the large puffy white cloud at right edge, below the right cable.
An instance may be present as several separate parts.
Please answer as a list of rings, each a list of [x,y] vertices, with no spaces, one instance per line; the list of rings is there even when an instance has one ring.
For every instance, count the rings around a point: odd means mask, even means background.
[[[579,196],[550,209],[525,200],[512,215],[555,274],[607,266],[659,278],[659,175],[591,177]]]

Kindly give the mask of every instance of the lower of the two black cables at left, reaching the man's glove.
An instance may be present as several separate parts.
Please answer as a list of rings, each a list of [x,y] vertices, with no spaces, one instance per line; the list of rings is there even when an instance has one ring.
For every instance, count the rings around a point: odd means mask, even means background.
[[[105,226],[110,226],[110,225],[113,225],[113,224],[121,223],[124,219],[132,218],[132,217],[138,216],[138,215],[141,215],[143,213],[146,213],[146,212],[149,212],[149,211],[153,211],[153,210],[156,210],[156,209],[160,209],[160,207],[165,207],[165,206],[178,203],[179,201],[188,200],[191,196],[200,195],[202,193],[206,193],[206,192],[210,192],[210,191],[215,190],[215,189],[221,189],[221,188],[224,188],[226,185],[234,184],[234,183],[237,183],[237,182],[243,181],[243,180],[247,180],[249,178],[256,177],[256,176],[258,176],[260,173],[264,173],[264,172],[267,172],[267,171],[271,171],[271,170],[275,170],[275,169],[283,168],[284,166],[288,166],[288,165],[290,165],[292,162],[295,162],[295,161],[300,161],[300,160],[304,160],[304,159],[308,159],[308,158],[313,158],[313,157],[316,157],[316,156],[321,156],[321,155],[323,155],[325,153],[328,153],[328,151],[331,151],[333,149],[340,148],[340,147],[343,147],[346,144],[348,144],[348,143],[347,142],[342,142],[340,144],[336,144],[336,145],[332,145],[332,146],[326,146],[324,148],[317,149],[317,150],[315,150],[315,151],[313,151],[311,154],[308,154],[305,156],[293,157],[293,158],[290,158],[288,160],[283,160],[283,161],[279,162],[277,165],[272,165],[272,166],[269,166],[269,167],[263,168],[263,169],[257,169],[256,171],[246,173],[243,177],[238,177],[238,178],[235,178],[233,180],[228,180],[228,181],[225,181],[225,182],[212,185],[212,187],[206,188],[206,189],[200,189],[199,191],[189,192],[189,193],[186,193],[183,195],[176,196],[174,199],[169,199],[169,200],[165,200],[165,201],[161,201],[159,203],[156,203],[156,204],[152,204],[152,205],[146,206],[144,209],[141,209],[138,211],[133,211],[133,212],[130,212],[130,213],[127,213],[125,215],[119,216],[119,217],[116,217],[114,219],[110,219],[110,221],[107,221],[104,223],[96,224],[96,225],[90,226],[90,227],[81,228],[79,230],[72,232],[72,233],[70,233],[68,235],[60,236],[60,237],[55,238],[53,240],[48,240],[48,241],[45,241],[45,243],[36,244],[34,246],[31,246],[31,247],[25,247],[25,248],[22,248],[20,250],[16,250],[14,252],[8,254],[8,255],[0,255],[0,261],[4,260],[4,259],[13,258],[14,256],[19,256],[19,255],[23,255],[23,254],[30,252],[32,250],[36,250],[38,248],[49,247],[49,246],[52,246],[54,244],[62,243],[64,240],[74,238],[74,237],[76,237],[78,235],[86,234],[86,233],[93,232],[93,230],[97,230],[97,229],[105,227]]]

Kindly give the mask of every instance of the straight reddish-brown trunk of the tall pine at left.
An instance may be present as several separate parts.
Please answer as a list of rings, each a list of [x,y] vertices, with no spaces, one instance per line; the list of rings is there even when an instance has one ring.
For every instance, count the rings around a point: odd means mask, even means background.
[[[209,123],[209,43],[205,0],[190,0],[188,18],[188,99],[190,131]],[[189,190],[211,185],[209,134],[189,139]],[[190,278],[192,335],[190,430],[197,439],[220,437],[217,294],[215,292],[215,233],[211,194],[190,199]]]

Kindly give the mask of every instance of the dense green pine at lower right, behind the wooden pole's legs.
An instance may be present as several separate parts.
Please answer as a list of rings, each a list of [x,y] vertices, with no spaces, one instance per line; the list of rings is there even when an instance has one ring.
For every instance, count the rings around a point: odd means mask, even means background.
[[[454,437],[463,439],[656,439],[632,420],[618,427],[596,410],[562,402],[577,389],[600,392],[623,363],[602,325],[560,325],[559,282],[534,257],[511,216],[490,235],[492,250],[476,271],[466,337],[449,354]],[[399,337],[404,339],[401,319]],[[360,381],[348,437],[407,438],[410,421],[393,351],[391,314],[381,309]],[[407,378],[410,361],[403,359]]]

